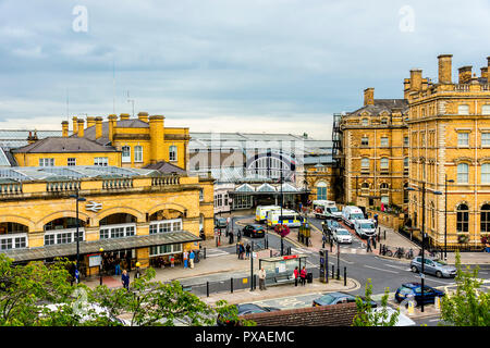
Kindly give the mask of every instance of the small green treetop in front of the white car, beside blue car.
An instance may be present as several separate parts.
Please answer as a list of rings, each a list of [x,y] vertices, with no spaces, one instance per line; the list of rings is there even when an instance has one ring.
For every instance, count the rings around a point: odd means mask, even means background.
[[[357,314],[354,316],[352,326],[394,326],[399,321],[400,309],[393,314],[388,311],[388,288],[381,298],[381,310],[375,310],[371,304],[372,284],[368,278],[366,282],[365,299],[356,297]]]

